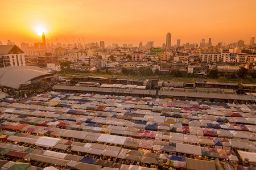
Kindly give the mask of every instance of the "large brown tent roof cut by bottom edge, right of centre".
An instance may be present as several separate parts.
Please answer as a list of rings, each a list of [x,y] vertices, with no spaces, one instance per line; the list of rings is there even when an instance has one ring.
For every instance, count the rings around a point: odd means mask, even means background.
[[[186,158],[187,169],[216,170],[215,163],[208,160]]]

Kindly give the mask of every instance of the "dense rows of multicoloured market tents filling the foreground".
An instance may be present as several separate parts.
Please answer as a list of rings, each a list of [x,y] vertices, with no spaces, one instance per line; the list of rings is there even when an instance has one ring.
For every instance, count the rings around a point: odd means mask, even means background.
[[[40,148],[47,151],[41,155],[50,158],[80,155],[84,162],[78,160],[79,165],[97,161],[104,162],[99,168],[126,165],[127,169],[157,168],[159,164],[188,168],[192,165],[188,162],[211,164],[216,159],[234,165],[255,163],[246,155],[255,156],[256,151],[254,105],[216,107],[215,103],[195,101],[56,92],[22,103],[10,101],[0,103],[2,142],[26,145],[30,150]],[[31,154],[35,153],[31,151],[23,160],[40,155]],[[178,158],[175,156],[185,161],[173,160]],[[108,158],[112,163],[106,162]],[[63,165],[59,166],[67,166]]]

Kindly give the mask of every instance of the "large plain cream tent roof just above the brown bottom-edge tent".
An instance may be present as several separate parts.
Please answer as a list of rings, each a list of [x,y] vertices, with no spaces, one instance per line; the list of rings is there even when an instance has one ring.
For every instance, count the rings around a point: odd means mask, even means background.
[[[185,145],[182,143],[176,143],[176,151],[185,154],[202,155],[201,147],[195,145]]]

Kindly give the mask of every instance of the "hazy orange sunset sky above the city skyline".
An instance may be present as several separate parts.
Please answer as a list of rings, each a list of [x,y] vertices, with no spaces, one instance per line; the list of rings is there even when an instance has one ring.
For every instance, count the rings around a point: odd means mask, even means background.
[[[64,43],[113,42],[162,46],[167,32],[172,45],[208,41],[249,44],[256,36],[255,0],[0,0],[0,41]],[[38,28],[39,27],[39,28]],[[40,30],[39,30],[40,31]],[[41,31],[42,32],[42,31]]]

